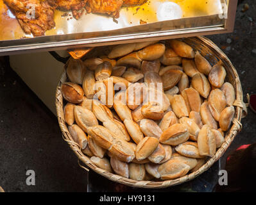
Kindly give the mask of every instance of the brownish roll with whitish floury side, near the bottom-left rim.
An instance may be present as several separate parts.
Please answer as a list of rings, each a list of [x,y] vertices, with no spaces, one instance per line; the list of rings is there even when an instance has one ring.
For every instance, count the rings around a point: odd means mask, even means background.
[[[110,158],[110,165],[113,168],[115,174],[129,178],[128,163],[118,160],[115,157]]]

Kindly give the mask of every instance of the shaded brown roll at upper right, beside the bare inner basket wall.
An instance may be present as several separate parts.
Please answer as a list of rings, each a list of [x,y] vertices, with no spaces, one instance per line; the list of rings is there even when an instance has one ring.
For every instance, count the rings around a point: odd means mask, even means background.
[[[191,46],[185,44],[181,40],[172,39],[169,40],[169,45],[175,51],[176,54],[183,58],[194,58],[194,51]]]

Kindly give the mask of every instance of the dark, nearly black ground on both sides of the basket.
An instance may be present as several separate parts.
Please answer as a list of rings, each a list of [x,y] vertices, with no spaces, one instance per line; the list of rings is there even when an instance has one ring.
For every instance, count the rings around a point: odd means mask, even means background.
[[[250,6],[246,12],[241,11],[244,3]],[[237,8],[234,32],[209,36],[237,69],[244,101],[247,93],[256,94],[255,11],[254,1],[243,1]],[[0,60],[0,186],[6,192],[85,192],[87,173],[78,166],[75,154],[62,139],[55,115],[8,69],[6,58]],[[256,142],[255,120],[256,114],[248,110],[248,116],[242,120],[243,131],[235,137],[222,161],[240,145]],[[35,186],[26,185],[26,170],[30,169],[35,170]],[[205,179],[210,181],[207,176]],[[103,180],[98,186],[110,184]]]

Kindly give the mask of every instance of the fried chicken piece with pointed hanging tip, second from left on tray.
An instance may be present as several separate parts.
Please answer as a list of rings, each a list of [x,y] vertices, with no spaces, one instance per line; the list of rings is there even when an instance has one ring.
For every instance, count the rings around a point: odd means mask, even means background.
[[[83,13],[82,8],[85,7],[87,0],[49,0],[51,6],[55,6],[58,10],[68,12],[72,11],[73,17],[79,19]]]

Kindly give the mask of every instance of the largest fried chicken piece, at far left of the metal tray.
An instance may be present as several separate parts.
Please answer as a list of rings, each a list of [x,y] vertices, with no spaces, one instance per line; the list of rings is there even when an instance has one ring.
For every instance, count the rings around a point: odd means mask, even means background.
[[[55,27],[54,10],[47,1],[40,3],[39,0],[4,0],[4,3],[12,10],[26,34],[32,33],[35,37],[38,37]],[[28,15],[31,14],[30,4],[35,5],[35,17],[31,19]]]

